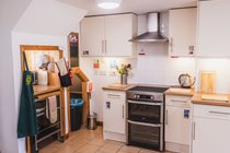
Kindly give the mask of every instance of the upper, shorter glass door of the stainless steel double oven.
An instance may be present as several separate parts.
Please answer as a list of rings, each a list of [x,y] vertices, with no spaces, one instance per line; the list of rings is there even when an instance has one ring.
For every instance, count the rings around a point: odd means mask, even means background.
[[[139,122],[163,122],[163,103],[151,103],[128,99],[128,119]]]

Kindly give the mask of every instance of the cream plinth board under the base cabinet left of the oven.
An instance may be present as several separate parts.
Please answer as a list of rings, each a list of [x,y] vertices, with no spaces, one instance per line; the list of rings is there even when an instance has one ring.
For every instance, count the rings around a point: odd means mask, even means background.
[[[103,131],[103,139],[104,140],[115,140],[115,141],[126,142],[125,134],[111,132],[111,131]]]

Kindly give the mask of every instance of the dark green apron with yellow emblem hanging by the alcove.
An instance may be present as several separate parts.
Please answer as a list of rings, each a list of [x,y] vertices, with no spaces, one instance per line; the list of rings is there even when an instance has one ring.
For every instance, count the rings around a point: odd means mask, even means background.
[[[33,76],[28,71],[25,55],[23,52],[26,70],[23,73],[20,113],[18,122],[18,138],[33,137],[37,133],[37,119],[33,90]]]

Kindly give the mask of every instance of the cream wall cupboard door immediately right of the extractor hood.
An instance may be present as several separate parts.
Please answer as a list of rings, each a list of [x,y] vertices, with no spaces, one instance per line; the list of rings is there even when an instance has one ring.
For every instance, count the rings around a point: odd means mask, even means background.
[[[195,56],[197,9],[176,9],[169,13],[170,56]]]

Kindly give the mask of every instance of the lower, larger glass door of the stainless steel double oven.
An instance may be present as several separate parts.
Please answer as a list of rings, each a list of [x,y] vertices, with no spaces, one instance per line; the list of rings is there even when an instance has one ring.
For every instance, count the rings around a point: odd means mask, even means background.
[[[128,144],[163,151],[162,125],[128,120]]]

